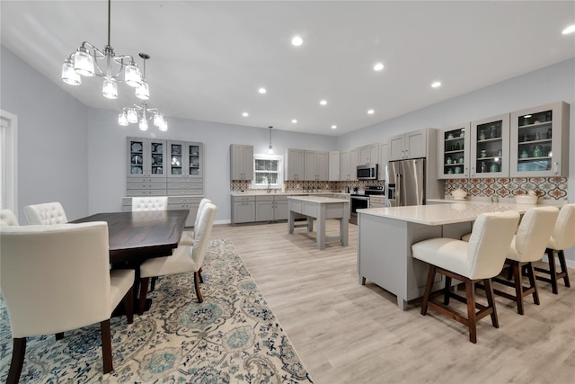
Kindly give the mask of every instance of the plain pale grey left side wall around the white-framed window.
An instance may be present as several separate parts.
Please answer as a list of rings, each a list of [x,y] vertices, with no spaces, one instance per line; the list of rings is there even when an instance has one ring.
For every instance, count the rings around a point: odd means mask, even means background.
[[[47,201],[60,201],[69,219],[85,216],[88,108],[8,49],[0,58],[1,108],[18,116],[19,221],[22,207]]]

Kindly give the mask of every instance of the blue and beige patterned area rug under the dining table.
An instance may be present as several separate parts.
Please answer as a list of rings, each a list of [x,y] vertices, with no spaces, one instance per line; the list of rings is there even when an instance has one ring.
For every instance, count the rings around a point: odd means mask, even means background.
[[[22,383],[301,383],[313,382],[229,239],[210,242],[201,284],[193,274],[164,276],[148,293],[144,316],[111,319],[114,370],[102,373],[100,325],[30,337]],[[41,320],[39,320],[41,321]],[[0,380],[12,338],[0,300]]]

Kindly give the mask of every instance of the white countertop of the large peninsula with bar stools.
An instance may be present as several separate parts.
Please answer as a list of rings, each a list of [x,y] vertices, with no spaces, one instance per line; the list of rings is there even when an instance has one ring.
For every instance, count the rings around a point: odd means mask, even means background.
[[[486,212],[500,212],[517,210],[525,213],[526,210],[537,205],[515,204],[513,202],[487,202],[487,201],[446,201],[447,204],[414,205],[409,207],[370,208],[358,210],[358,214],[372,215],[386,219],[397,219],[420,223],[429,226],[463,223],[473,221]]]

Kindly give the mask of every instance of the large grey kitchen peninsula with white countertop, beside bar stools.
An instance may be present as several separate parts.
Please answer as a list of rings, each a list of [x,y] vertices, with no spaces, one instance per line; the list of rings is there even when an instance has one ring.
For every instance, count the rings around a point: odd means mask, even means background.
[[[408,301],[423,295],[428,272],[427,263],[411,257],[412,244],[431,237],[460,238],[471,232],[473,221],[482,213],[525,213],[535,206],[461,201],[358,210],[359,283],[375,282],[396,295],[398,307],[405,309]],[[433,290],[442,288],[442,276],[436,279]]]

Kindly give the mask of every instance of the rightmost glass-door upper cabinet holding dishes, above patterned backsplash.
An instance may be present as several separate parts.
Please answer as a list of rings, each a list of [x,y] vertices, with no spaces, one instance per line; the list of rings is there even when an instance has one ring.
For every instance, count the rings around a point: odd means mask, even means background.
[[[510,176],[568,176],[569,110],[559,102],[511,113]]]

